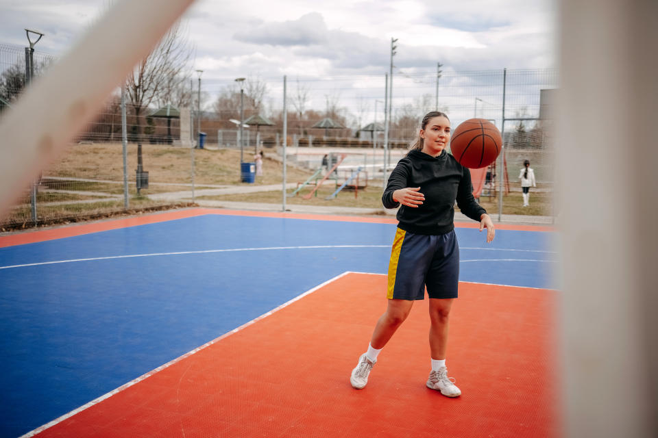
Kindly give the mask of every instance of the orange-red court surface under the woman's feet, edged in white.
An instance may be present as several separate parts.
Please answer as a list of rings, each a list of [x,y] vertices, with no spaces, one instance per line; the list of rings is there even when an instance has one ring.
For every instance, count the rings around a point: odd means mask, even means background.
[[[38,437],[556,437],[557,292],[461,283],[448,369],[428,389],[427,300],[350,372],[386,305],[386,276],[346,272],[82,409]],[[48,426],[46,428],[46,426]]]

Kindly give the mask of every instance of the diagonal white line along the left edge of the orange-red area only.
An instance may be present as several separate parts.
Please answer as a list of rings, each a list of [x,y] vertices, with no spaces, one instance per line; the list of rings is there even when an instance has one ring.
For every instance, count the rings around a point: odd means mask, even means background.
[[[293,299],[291,299],[287,302],[284,302],[279,307],[276,307],[275,309],[272,309],[271,311],[269,311],[267,313],[263,313],[263,315],[260,315],[260,316],[254,318],[253,320],[251,320],[249,322],[245,322],[245,324],[242,324],[237,329],[233,329],[232,331],[224,333],[220,337],[212,339],[212,341],[206,342],[206,344],[204,344],[202,346],[199,346],[199,347],[195,348],[194,350],[191,350],[190,352],[186,352],[184,355],[182,355],[180,357],[177,357],[176,359],[173,359],[172,361],[169,361],[169,362],[165,363],[164,365],[160,365],[155,370],[151,370],[151,371],[147,372],[146,374],[142,374],[141,376],[139,376],[137,378],[134,378],[132,381],[130,381],[128,383],[125,383],[125,385],[121,385],[117,389],[113,389],[112,391],[108,392],[107,394],[104,394],[103,396],[100,396],[99,398],[95,398],[94,400],[91,400],[87,404],[84,404],[81,407],[79,407],[77,409],[74,409],[73,411],[62,415],[61,417],[56,418],[55,420],[53,420],[49,423],[46,423],[43,426],[40,426],[40,427],[26,433],[25,435],[22,435],[20,438],[34,437],[34,435],[37,435],[38,433],[42,433],[44,430],[46,430],[48,428],[51,428],[52,426],[55,426],[56,424],[61,423],[64,420],[66,420],[70,417],[73,417],[73,415],[75,415],[77,413],[80,413],[80,412],[84,411],[85,409],[88,409],[88,408],[94,406],[95,404],[98,404],[98,403],[102,402],[103,400],[106,400],[106,399],[114,396],[114,394],[119,394],[119,392],[123,391],[124,389],[130,388],[132,385],[135,385],[136,383],[139,383],[139,382],[143,381],[145,378],[148,378],[148,377],[156,374],[157,372],[160,372],[160,371],[164,370],[165,368],[169,368],[174,363],[178,363],[178,362],[182,361],[183,359],[185,359],[186,357],[190,357],[191,355],[194,355],[196,352],[199,352],[199,351],[203,350],[204,348],[207,348],[207,347],[211,346],[212,344],[217,344],[217,342],[221,341],[222,339],[226,339],[226,337],[229,337],[230,335],[233,335],[234,333],[238,333],[242,329],[245,329],[246,327],[254,324],[255,322],[258,322],[258,321],[262,320],[263,318],[267,318],[272,313],[275,313],[276,311],[280,311],[284,307],[287,307],[287,306],[291,305],[293,302],[295,302],[297,300],[300,300],[300,299],[304,298],[305,296],[307,296],[309,294],[313,294],[313,292],[317,291],[317,289],[320,289],[321,287],[324,287],[324,286],[328,285],[329,283],[332,283],[333,281],[341,279],[343,276],[345,276],[347,274],[350,274],[350,273],[352,273],[352,272],[345,271],[342,274],[334,276],[334,278],[329,279],[329,280],[325,281],[324,283],[321,283],[320,285],[317,285],[317,286],[313,287],[313,289],[309,289],[306,292],[304,292],[303,294],[297,295],[297,296],[295,296],[295,298],[293,298]]]

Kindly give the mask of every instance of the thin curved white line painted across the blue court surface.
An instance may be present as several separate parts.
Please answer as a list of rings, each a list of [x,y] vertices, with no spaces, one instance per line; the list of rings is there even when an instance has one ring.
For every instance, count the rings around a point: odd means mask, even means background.
[[[37,263],[23,263],[21,265],[0,266],[0,269],[25,268],[27,266],[44,266],[57,263],[74,263],[77,261],[95,261],[95,260],[112,260],[112,259],[130,259],[132,257],[157,257],[163,255],[186,255],[186,254],[210,254],[210,253],[231,253],[237,251],[268,251],[268,250],[289,250],[289,249],[331,249],[331,248],[390,248],[390,245],[312,245],[312,246],[269,246],[265,248],[232,248],[232,249],[209,249],[199,251],[176,251],[173,253],[150,253],[150,254],[130,254],[130,255],[110,255],[108,257],[89,257],[86,259],[69,259],[40,261]],[[524,251],[533,253],[557,254],[553,251],[525,250],[525,249],[497,249],[497,248],[460,248],[460,249],[483,249],[483,250],[501,250],[501,251]],[[484,260],[461,260],[461,261],[516,261],[515,259],[484,259]],[[531,261],[531,260],[520,260]],[[543,260],[532,260],[543,261]],[[550,260],[546,260],[550,261]]]

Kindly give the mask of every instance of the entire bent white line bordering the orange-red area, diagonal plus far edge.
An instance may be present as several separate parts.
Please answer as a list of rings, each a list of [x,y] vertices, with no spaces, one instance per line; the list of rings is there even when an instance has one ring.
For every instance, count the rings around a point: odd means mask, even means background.
[[[239,331],[242,331],[243,329],[246,329],[248,326],[251,326],[255,324],[256,322],[263,320],[264,318],[267,318],[269,315],[272,315],[273,313],[276,313],[277,311],[280,311],[281,309],[284,309],[285,307],[288,307],[289,305],[293,304],[293,302],[301,300],[305,296],[308,296],[310,294],[313,294],[313,292],[317,291],[318,289],[321,289],[322,287],[325,287],[326,285],[333,283],[334,281],[337,281],[344,276],[347,276],[349,274],[361,274],[361,275],[378,275],[378,276],[385,276],[387,274],[379,274],[377,272],[360,272],[360,271],[345,271],[341,274],[338,274],[337,276],[332,277],[331,279],[328,279],[327,281],[324,281],[323,283],[320,283],[319,285],[312,287],[308,289],[306,292],[302,292],[302,294],[295,296],[295,298],[291,298],[290,300],[284,302],[282,305],[279,305],[275,307],[274,309],[271,309],[270,311],[267,311],[263,313],[263,315],[259,315],[253,320],[247,321],[241,326],[236,327],[235,329],[228,331],[224,333],[223,335],[216,337],[215,339],[212,339],[211,341],[206,342],[206,344],[203,344],[201,346],[198,346],[197,348],[194,348],[193,350],[190,350],[186,352],[184,355],[181,355],[179,357],[176,357],[175,359],[172,359],[171,361],[164,363],[160,365],[158,368],[154,368],[153,370],[146,372],[145,374],[142,374],[141,376],[138,376],[132,381],[124,383],[120,387],[117,387],[115,389],[112,389],[112,391],[109,391],[106,394],[103,394],[100,397],[95,398],[94,400],[91,400],[90,402],[87,402],[83,404],[81,407],[78,407],[76,409],[73,409],[73,411],[70,411],[69,413],[65,413],[64,415],[61,415],[60,417],[57,417],[54,420],[51,420],[50,422],[43,424],[42,426],[39,426],[38,428],[34,430],[30,430],[28,433],[25,433],[24,435],[21,435],[19,438],[29,438],[29,437],[34,437],[35,435],[38,435],[39,433],[42,433],[44,430],[47,430],[53,426],[56,426],[57,424],[63,422],[64,420],[68,420],[69,418],[73,417],[73,415],[77,415],[78,413],[85,411],[86,409],[89,409],[90,407],[93,407],[95,404],[99,404],[100,402],[103,402],[103,400],[107,400],[108,398],[119,394],[119,392],[132,387],[133,385],[136,385],[137,383],[140,383],[141,381],[149,378],[150,376],[153,376],[154,374],[165,370],[169,368],[171,365],[174,365],[175,363],[178,363],[182,361],[183,359],[186,359],[188,357],[191,357],[195,353],[204,350],[205,348],[208,348],[209,346],[213,344],[217,344],[217,342],[226,339],[230,335],[234,335],[235,333],[238,333]],[[500,286],[500,287],[515,287],[515,288],[521,288],[521,289],[535,289],[535,290],[546,290],[546,291],[551,291],[551,292],[559,292],[557,289],[548,289],[545,287],[527,287],[527,286],[514,286],[514,285],[499,285],[496,283],[480,283],[477,281],[459,281],[459,283],[469,283],[469,284],[480,284],[480,285],[489,285],[489,286]]]

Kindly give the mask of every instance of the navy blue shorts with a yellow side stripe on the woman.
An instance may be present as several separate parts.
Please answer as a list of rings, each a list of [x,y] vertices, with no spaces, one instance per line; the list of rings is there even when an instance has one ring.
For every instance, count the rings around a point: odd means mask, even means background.
[[[414,234],[398,228],[389,261],[387,298],[457,298],[459,244],[454,230],[441,235]]]

